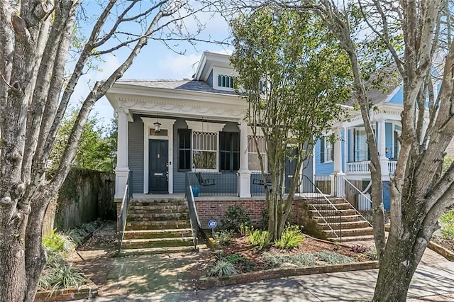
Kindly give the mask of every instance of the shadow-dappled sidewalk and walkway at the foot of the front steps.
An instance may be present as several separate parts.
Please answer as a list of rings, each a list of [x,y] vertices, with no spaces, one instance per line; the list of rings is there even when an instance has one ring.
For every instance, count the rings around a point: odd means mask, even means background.
[[[114,228],[114,225],[109,225]],[[111,230],[104,230],[109,234]],[[99,237],[103,233],[98,234]],[[111,246],[111,240],[104,247]],[[101,243],[103,241],[101,240]],[[103,246],[103,245],[101,245]],[[109,257],[109,250],[86,249],[74,261],[91,272],[100,297],[94,301],[370,301],[377,269],[292,276],[250,284],[196,290],[196,270],[204,252],[177,255]],[[454,262],[426,250],[408,294],[409,301],[454,301]]]

